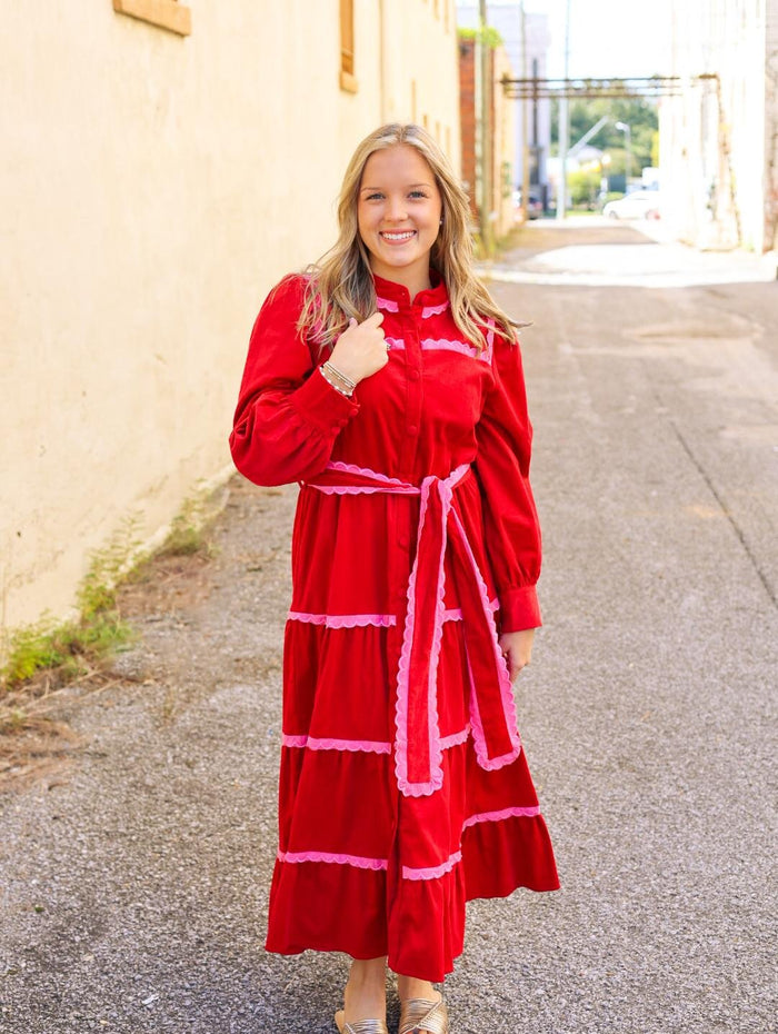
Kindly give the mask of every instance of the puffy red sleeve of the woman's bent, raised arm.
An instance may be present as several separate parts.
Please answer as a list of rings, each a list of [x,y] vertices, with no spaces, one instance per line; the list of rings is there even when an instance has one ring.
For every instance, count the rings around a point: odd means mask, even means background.
[[[336,438],[359,410],[356,396],[337,391],[319,374],[297,330],[305,279],[287,277],[266,299],[251,332],[230,450],[236,467],[257,485],[285,485],[326,467]]]

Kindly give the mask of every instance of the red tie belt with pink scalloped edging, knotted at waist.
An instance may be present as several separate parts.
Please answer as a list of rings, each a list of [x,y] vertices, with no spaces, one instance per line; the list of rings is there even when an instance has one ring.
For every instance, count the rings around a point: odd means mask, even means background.
[[[449,543],[462,610],[476,759],[481,768],[501,768],[521,750],[510,675],[498,643],[489,593],[453,506],[455,487],[470,474],[470,466],[463,464],[447,478],[426,477],[417,486],[366,467],[329,463],[320,475],[302,483],[329,495],[420,497],[395,712],[395,772],[400,792],[408,797],[432,794],[443,785],[437,686]]]

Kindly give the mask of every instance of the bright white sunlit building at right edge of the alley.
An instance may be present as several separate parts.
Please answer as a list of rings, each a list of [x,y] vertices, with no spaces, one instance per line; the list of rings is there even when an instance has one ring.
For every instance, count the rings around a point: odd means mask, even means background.
[[[702,248],[778,247],[778,0],[676,0],[662,218]]]

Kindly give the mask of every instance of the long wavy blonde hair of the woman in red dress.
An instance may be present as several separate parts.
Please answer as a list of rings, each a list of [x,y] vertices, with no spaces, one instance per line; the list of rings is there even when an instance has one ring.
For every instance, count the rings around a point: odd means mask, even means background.
[[[451,316],[476,347],[486,341],[488,321],[507,340],[516,340],[517,324],[495,302],[473,271],[468,197],[435,139],[420,126],[390,122],[371,132],[353,152],[338,201],[340,233],[335,246],[306,270],[309,280],[298,329],[323,349],[335,344],[353,317],[360,322],[376,311],[376,288],[368,249],[359,235],[357,203],[368,158],[398,145],[416,148],[435,176],[442,201],[442,225],[430,262],[448,290]]]

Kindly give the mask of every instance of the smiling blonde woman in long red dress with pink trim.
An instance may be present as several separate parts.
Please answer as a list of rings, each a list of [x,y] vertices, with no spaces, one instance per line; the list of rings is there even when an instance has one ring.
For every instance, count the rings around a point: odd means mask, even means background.
[[[250,480],[301,485],[267,948],[352,956],[346,1034],[387,1031],[387,965],[401,1034],[443,1034],[465,902],[558,886],[511,693],[540,624],[531,428],[432,138],[367,137],[338,215],[262,306],[230,438]]]

